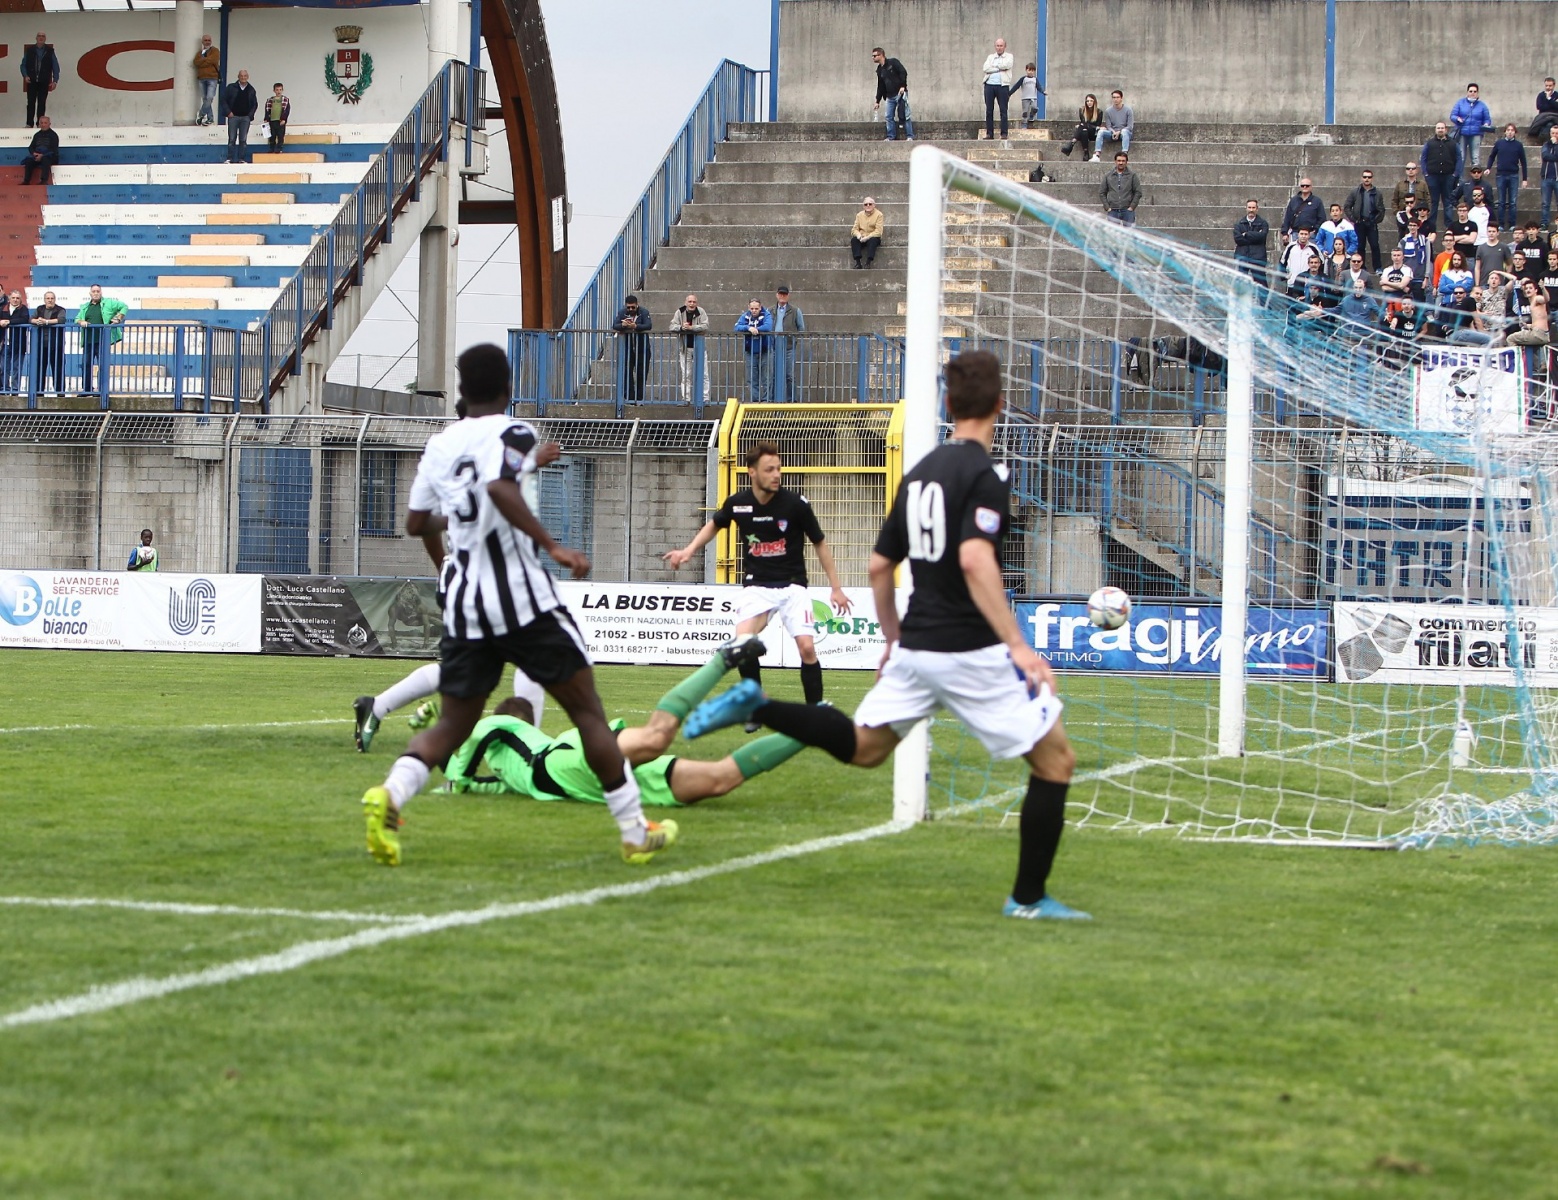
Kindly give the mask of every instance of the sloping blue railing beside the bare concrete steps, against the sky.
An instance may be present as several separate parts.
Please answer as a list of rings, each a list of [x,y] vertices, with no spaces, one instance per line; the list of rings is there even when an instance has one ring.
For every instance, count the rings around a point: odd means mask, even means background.
[[[753,70],[731,59],[715,69],[659,170],[617,232],[617,240],[562,323],[566,330],[583,334],[597,354],[603,330],[611,329],[622,298],[642,287],[656,251],[665,245],[682,206],[692,199],[704,167],[714,162],[715,146],[724,140],[726,129],[732,122],[767,118],[768,86],[770,75],[765,70]],[[584,362],[594,357],[597,355],[583,355]]]

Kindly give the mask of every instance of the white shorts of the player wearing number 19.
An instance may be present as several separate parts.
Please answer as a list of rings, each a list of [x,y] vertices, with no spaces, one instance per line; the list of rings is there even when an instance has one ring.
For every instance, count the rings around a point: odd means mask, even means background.
[[[1049,686],[1036,697],[1003,645],[939,653],[896,647],[882,678],[855,709],[855,725],[891,725],[904,737],[938,709],[957,717],[996,759],[1016,759],[1038,745],[1061,715]]]

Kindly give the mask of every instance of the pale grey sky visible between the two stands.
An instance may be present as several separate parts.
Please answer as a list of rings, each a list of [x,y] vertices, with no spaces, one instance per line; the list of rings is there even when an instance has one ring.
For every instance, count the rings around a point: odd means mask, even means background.
[[[541,8],[562,111],[573,203],[569,293],[576,296],[720,61],[767,69],[771,9],[768,0],[542,0]],[[407,354],[414,313],[413,252],[343,355],[365,355],[365,385],[382,379],[393,390],[414,374]],[[460,346],[502,344],[517,324],[513,229],[467,226],[460,234]],[[330,377],[351,382],[357,366],[340,362]]]

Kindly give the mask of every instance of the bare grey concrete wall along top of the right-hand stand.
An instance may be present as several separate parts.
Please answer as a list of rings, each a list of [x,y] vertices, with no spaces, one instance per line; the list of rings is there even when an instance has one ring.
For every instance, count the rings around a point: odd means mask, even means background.
[[[876,94],[871,47],[908,69],[916,120],[982,120],[980,64],[997,36],[1036,61],[1038,0],[787,0],[781,120],[855,122]],[[1524,131],[1558,69],[1550,0],[1340,0],[1337,123],[1443,118],[1468,79]],[[1483,48],[1488,53],[1483,53]],[[1468,65],[1477,62],[1482,65]],[[1047,117],[1125,90],[1139,122],[1324,118],[1324,0],[1049,0]],[[1017,101],[1013,100],[1013,114]]]

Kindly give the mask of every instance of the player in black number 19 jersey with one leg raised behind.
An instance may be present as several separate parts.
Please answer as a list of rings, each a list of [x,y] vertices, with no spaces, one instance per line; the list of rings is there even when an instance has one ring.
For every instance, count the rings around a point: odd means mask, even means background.
[[[855,720],[830,708],[768,700],[743,679],[695,709],[686,732],[700,737],[756,718],[840,762],[879,767],[916,722],[949,709],[992,757],[1028,761],[1006,916],[1087,919],[1045,891],[1077,757],[1061,725],[1055,675],[1024,641],[1000,581],[1011,486],[989,447],[1002,402],[994,354],[971,351],[947,363],[952,438],[904,477],[871,553],[887,653]],[[901,628],[893,572],[905,558],[915,591]]]

